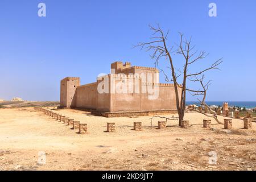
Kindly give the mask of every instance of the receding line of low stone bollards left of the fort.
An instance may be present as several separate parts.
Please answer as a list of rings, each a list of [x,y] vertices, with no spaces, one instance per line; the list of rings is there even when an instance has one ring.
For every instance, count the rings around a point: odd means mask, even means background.
[[[79,129],[80,134],[85,134],[87,132],[87,124],[80,123],[79,121],[74,121],[74,119],[70,119],[68,117],[65,117],[64,115],[55,113],[51,110],[44,109],[42,107],[34,107],[34,110],[36,111],[42,111],[44,114],[49,115],[49,117],[52,117],[54,119],[57,119],[58,122],[67,123],[67,126],[71,126],[73,130]]]

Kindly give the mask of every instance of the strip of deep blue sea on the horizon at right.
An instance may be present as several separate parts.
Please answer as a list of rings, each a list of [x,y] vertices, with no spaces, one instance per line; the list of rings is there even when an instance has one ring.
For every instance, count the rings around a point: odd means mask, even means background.
[[[239,106],[239,107],[246,107],[247,109],[255,108],[256,101],[206,101],[206,104],[209,106],[222,106],[223,102],[228,102],[229,106]],[[199,101],[187,101],[186,105],[200,105]]]

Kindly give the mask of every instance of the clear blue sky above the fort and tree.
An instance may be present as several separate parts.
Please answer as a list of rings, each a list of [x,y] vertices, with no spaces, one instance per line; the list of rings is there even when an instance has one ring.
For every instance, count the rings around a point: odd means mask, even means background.
[[[40,2],[46,3],[46,17],[38,16]],[[217,17],[208,15],[211,2],[217,5]],[[210,53],[190,72],[223,57],[221,71],[205,75],[213,80],[208,101],[256,101],[255,9],[254,0],[1,0],[0,98],[57,101],[64,77],[94,82],[119,60],[154,67],[148,52],[131,47],[150,38],[148,24],[159,23],[170,30],[170,46],[179,41],[180,31],[192,36],[197,49]],[[180,61],[175,57],[177,67]],[[164,82],[163,75],[160,80]],[[196,98],[188,94],[187,100]]]

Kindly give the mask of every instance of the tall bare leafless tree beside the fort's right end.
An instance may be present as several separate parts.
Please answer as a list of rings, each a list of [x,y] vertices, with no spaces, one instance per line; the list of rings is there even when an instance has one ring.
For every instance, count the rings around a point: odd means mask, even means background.
[[[195,94],[203,94],[205,90],[193,90],[187,88],[187,81],[193,77],[197,77],[203,75],[205,72],[209,71],[210,69],[218,69],[218,65],[222,63],[222,59],[218,59],[214,61],[210,67],[205,68],[196,73],[188,73],[188,67],[199,60],[203,60],[205,57],[208,56],[208,53],[205,51],[194,51],[195,46],[191,45],[191,38],[189,40],[184,40],[183,34],[179,32],[180,35],[180,42],[176,44],[177,49],[174,49],[174,46],[168,47],[167,46],[167,34],[164,34],[163,30],[160,28],[159,24],[157,27],[150,26],[150,29],[153,31],[153,36],[150,38],[152,41],[145,42],[145,43],[138,43],[137,46],[134,47],[141,47],[141,49],[146,48],[146,51],[152,51],[152,55],[150,56],[151,59],[155,60],[155,67],[159,66],[159,60],[161,58],[165,58],[170,63],[171,69],[171,79],[164,73],[163,69],[160,69],[164,75],[166,76],[166,81],[174,82],[174,89],[175,89],[175,97],[176,97],[176,107],[177,113],[179,114],[179,125],[181,125],[181,121],[184,118],[185,114],[185,101],[186,101],[186,92],[194,92]],[[174,65],[174,60],[172,59],[173,54],[179,54],[184,58],[183,70],[177,69]],[[182,84],[178,84],[177,78],[182,77],[183,81]],[[205,88],[208,88],[208,85],[205,85]],[[181,93],[179,94],[179,90]],[[206,96],[206,94],[205,94]],[[201,104],[205,104],[204,100]]]

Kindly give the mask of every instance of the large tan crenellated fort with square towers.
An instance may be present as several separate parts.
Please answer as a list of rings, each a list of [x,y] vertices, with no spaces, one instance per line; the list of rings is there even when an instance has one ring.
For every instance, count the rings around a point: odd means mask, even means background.
[[[173,113],[176,97],[173,84],[159,83],[158,69],[117,61],[111,64],[111,73],[97,77],[96,82],[80,85],[79,77],[61,80],[59,108],[104,117]]]

